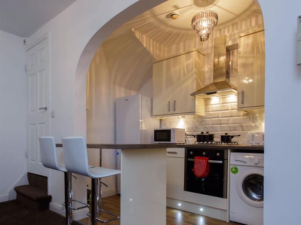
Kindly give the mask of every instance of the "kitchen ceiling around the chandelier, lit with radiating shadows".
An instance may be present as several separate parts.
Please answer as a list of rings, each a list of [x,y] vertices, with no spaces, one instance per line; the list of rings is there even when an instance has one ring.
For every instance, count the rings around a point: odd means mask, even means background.
[[[208,2],[207,10],[218,13],[216,29],[262,15],[254,0],[169,0],[126,22],[109,38],[132,29],[166,47],[195,39],[197,35],[191,28],[191,18],[204,10],[203,1]],[[173,11],[179,13],[178,19],[170,18]]]

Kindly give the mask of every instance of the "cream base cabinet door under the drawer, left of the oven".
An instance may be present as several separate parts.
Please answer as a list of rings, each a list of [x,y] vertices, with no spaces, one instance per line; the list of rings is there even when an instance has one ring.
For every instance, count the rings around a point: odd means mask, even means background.
[[[184,200],[185,158],[167,157],[166,197]]]

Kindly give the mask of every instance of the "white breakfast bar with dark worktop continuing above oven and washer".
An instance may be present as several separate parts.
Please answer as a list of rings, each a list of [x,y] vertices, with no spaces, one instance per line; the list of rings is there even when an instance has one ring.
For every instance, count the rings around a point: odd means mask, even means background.
[[[121,225],[166,224],[167,148],[263,151],[263,146],[186,144],[87,144],[87,148],[100,149],[100,166],[102,149],[121,149]]]

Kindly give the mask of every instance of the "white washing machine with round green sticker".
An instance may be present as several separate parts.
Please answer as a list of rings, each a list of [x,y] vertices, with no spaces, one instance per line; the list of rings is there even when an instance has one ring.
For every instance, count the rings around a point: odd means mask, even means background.
[[[263,154],[230,156],[230,220],[263,225]]]

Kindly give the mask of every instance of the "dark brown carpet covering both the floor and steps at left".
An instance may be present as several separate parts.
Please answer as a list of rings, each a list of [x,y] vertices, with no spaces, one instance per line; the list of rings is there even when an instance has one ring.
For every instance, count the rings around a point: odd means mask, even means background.
[[[49,210],[47,177],[27,173],[29,185],[15,187],[17,199],[0,202],[1,225],[65,225],[65,217]],[[72,225],[82,224],[73,221]]]

